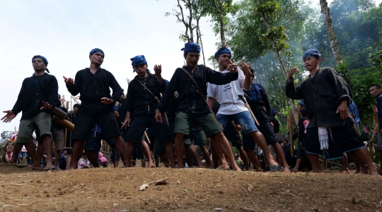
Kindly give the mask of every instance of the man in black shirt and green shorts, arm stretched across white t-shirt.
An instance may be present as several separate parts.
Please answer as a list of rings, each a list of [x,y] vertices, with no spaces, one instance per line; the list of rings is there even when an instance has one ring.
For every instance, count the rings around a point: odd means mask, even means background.
[[[236,65],[228,67],[229,72],[222,74],[215,72],[204,65],[197,65],[200,57],[200,46],[197,43],[189,42],[183,48],[186,65],[175,70],[170,80],[161,103],[158,104],[156,110],[156,121],[162,122],[162,114],[166,111],[166,107],[170,104],[175,91],[178,91],[180,104],[175,117],[174,134],[175,149],[177,152],[178,168],[183,168],[183,151],[185,144],[183,138],[190,135],[190,128],[194,123],[199,123],[208,138],[212,138],[212,143],[219,152],[219,160],[221,168],[228,169],[228,164],[224,155],[228,157],[234,170],[240,171],[233,157],[231,146],[226,137],[224,137],[223,129],[216,117],[210,112],[207,102],[201,95],[207,96],[207,82],[212,84],[227,84],[238,79],[238,69]],[[188,72],[195,79],[197,84],[185,72]],[[202,89],[201,91],[199,91]],[[224,153],[224,154],[223,154]]]

